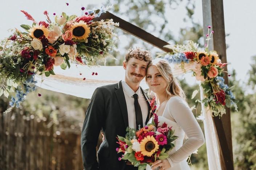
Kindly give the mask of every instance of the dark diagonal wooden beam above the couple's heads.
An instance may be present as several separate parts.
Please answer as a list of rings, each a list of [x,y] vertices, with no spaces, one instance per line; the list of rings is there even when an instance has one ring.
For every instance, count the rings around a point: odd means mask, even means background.
[[[138,37],[142,39],[143,41],[160,48],[163,51],[169,52],[170,50],[168,48],[164,48],[163,46],[168,45],[169,43],[163,41],[160,38],[155,37],[154,35],[148,33],[147,31],[131,24],[130,22],[127,22],[114,14],[110,12],[102,13],[101,16],[98,18],[94,18],[94,21],[99,21],[99,20],[105,20],[105,19],[110,19],[112,18],[114,22],[119,22],[119,28],[122,29],[123,31],[134,35],[135,37]]]

